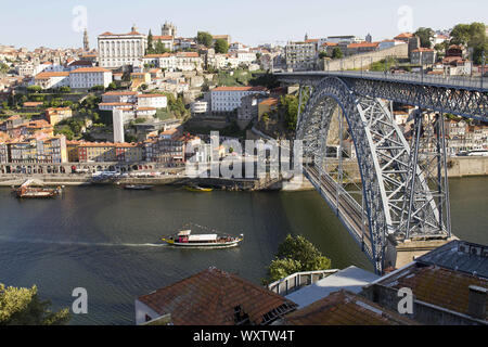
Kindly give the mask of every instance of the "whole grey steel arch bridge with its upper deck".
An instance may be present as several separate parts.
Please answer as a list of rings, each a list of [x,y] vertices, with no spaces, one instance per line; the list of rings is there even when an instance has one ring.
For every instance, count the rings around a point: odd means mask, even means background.
[[[292,73],[278,78],[300,85],[296,139],[304,144],[304,175],[377,273],[395,266],[399,242],[451,237],[444,112],[487,120],[486,89],[355,73]],[[305,94],[308,101],[300,114]],[[387,101],[419,107],[410,141]],[[425,115],[422,110],[433,112]],[[339,155],[331,159],[328,138],[336,114]],[[360,198],[348,188],[344,137],[356,150]]]

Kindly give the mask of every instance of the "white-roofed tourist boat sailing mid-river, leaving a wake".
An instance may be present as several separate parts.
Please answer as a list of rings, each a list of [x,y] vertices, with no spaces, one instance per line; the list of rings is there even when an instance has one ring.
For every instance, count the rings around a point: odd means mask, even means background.
[[[196,248],[228,248],[237,246],[244,234],[239,237],[219,234],[192,235],[191,230],[183,230],[172,236],[165,236],[162,240],[168,245],[178,247]]]

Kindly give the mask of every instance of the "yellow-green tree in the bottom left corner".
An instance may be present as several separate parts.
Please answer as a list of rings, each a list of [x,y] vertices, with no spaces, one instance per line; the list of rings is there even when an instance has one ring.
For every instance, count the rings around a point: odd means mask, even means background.
[[[0,325],[62,325],[69,322],[68,309],[53,312],[41,301],[37,287],[5,287],[0,283]]]

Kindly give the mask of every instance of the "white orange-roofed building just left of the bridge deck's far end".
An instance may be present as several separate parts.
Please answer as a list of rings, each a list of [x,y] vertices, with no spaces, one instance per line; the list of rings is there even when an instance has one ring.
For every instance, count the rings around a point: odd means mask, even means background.
[[[218,87],[210,91],[213,112],[232,112],[241,107],[243,97],[261,93],[266,94],[265,87]]]

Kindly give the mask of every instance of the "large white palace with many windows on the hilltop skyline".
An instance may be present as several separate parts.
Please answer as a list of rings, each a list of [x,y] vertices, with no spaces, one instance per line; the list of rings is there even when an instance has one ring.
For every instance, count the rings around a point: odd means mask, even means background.
[[[117,68],[132,65],[140,61],[147,49],[147,37],[137,31],[136,27],[129,34],[104,33],[99,36],[100,66]]]

